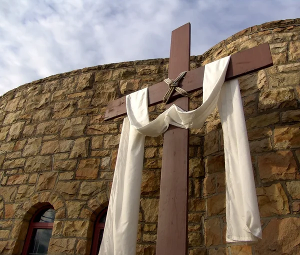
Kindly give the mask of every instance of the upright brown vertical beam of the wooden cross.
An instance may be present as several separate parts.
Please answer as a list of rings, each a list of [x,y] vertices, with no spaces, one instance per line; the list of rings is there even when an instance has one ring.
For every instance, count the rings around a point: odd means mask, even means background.
[[[172,31],[168,77],[189,70],[190,23]],[[189,98],[170,104],[187,111]],[[188,130],[170,126],[163,135],[156,255],[187,254]]]

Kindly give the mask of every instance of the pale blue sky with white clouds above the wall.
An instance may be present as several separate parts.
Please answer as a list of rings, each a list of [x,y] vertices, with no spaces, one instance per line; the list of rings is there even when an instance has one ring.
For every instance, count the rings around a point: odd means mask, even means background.
[[[0,94],[83,67],[168,57],[171,30],[186,22],[198,55],[299,13],[300,0],[0,0]]]

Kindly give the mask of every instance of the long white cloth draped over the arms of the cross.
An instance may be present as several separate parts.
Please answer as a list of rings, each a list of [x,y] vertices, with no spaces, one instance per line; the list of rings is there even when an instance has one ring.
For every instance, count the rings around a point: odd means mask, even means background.
[[[256,241],[261,225],[249,144],[237,79],[224,82],[230,56],[205,65],[203,103],[185,112],[176,105],[149,121],[147,88],[126,96],[124,118],[100,255],[134,255],[145,136],[158,136],[169,124],[201,128],[218,107],[224,137],[226,241]]]

